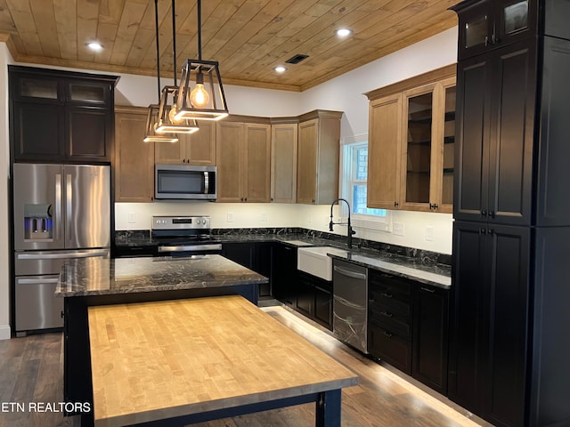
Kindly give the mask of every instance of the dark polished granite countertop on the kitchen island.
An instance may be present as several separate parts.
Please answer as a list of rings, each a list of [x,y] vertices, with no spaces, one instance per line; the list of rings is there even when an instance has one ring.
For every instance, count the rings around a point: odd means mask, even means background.
[[[267,283],[221,255],[155,258],[83,258],[65,262],[56,296],[170,291]]]

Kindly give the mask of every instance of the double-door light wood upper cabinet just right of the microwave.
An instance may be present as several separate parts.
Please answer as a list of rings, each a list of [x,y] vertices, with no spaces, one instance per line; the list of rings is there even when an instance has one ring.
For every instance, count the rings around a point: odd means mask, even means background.
[[[269,202],[271,125],[216,124],[218,202]]]

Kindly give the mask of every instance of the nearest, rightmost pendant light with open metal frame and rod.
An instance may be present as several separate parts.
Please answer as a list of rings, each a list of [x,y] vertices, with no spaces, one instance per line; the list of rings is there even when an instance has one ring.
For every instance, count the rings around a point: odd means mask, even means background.
[[[198,60],[186,60],[183,64],[175,117],[220,120],[228,116],[228,107],[218,62],[202,60],[201,9],[198,0]]]

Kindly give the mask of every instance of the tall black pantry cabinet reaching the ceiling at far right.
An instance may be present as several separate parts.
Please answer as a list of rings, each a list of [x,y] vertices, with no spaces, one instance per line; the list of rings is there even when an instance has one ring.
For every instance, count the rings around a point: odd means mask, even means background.
[[[498,426],[570,425],[570,2],[452,10],[449,397]]]

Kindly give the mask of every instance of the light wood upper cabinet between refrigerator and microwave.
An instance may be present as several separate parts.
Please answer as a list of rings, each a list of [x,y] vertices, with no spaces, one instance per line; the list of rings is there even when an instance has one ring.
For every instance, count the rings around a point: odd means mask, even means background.
[[[154,142],[144,142],[147,109],[115,107],[115,201],[151,202]]]

